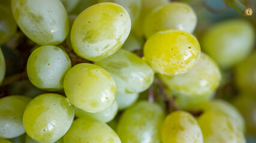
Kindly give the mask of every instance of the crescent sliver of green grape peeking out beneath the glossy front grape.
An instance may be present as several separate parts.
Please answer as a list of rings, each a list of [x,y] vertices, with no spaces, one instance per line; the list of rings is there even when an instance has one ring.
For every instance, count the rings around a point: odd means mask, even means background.
[[[97,113],[89,113],[89,112],[80,110],[79,108],[75,108],[75,114],[77,117],[92,118],[104,123],[107,123],[113,120],[117,113],[118,113],[118,104],[116,102],[114,102],[106,110],[103,110]]]

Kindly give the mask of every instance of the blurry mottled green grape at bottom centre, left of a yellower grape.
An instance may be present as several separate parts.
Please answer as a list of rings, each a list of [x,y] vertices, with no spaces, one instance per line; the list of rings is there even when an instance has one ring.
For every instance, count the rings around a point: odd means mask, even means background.
[[[158,105],[141,101],[125,110],[118,124],[122,143],[161,141],[161,125],[164,112]]]

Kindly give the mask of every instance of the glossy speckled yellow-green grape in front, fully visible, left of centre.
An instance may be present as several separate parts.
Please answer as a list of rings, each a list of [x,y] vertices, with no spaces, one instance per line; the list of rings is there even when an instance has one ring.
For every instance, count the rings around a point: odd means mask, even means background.
[[[116,83],[110,74],[88,63],[77,64],[68,71],[64,91],[71,104],[92,113],[106,110],[116,99]]]

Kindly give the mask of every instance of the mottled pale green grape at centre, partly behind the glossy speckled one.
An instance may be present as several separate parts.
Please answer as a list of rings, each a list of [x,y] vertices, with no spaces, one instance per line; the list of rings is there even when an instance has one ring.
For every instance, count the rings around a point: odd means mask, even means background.
[[[125,49],[120,49],[112,56],[96,61],[95,64],[111,74],[119,93],[142,92],[153,82],[153,70],[144,60]]]

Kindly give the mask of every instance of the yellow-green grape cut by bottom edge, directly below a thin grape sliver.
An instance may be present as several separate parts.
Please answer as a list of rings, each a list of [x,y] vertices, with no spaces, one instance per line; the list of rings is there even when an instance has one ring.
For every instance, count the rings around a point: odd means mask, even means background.
[[[79,118],[74,121],[70,130],[64,135],[64,142],[121,143],[116,132],[106,123],[86,118]]]

